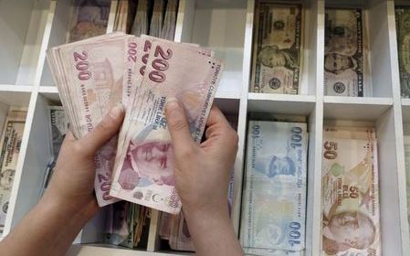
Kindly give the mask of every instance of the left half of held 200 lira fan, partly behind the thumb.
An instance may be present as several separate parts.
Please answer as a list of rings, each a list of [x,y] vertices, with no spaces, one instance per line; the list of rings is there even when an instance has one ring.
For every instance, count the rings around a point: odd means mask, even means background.
[[[134,37],[113,33],[48,50],[47,59],[77,138],[89,133],[117,102],[128,101],[123,80],[128,74],[128,49],[133,43]],[[114,137],[95,157],[95,189],[100,206],[117,200],[109,195],[116,151]]]

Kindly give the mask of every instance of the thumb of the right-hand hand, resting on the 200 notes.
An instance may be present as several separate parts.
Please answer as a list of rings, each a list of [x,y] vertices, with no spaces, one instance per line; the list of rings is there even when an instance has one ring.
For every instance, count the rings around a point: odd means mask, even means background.
[[[168,130],[173,140],[175,153],[194,148],[194,140],[189,132],[188,120],[184,112],[184,107],[175,98],[167,101],[165,116],[168,123]]]

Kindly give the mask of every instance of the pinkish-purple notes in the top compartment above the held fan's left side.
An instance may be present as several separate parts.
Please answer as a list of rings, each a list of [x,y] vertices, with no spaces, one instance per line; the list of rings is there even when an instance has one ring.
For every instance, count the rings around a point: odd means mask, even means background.
[[[74,0],[72,3],[66,42],[96,37],[107,32],[110,0]]]

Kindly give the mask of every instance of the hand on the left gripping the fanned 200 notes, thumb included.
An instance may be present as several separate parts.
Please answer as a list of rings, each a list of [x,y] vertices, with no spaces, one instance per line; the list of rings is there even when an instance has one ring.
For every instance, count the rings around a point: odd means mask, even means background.
[[[44,199],[74,212],[82,211],[88,219],[98,212],[94,196],[94,155],[119,132],[123,118],[124,109],[118,104],[79,140],[73,133],[67,133]]]

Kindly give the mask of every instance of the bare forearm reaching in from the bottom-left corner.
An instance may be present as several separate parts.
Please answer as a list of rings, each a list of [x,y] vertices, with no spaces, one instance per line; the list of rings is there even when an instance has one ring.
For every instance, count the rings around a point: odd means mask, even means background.
[[[64,255],[88,219],[79,209],[43,197],[0,243],[0,251],[5,256]]]

